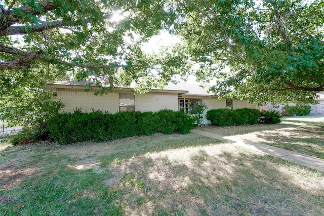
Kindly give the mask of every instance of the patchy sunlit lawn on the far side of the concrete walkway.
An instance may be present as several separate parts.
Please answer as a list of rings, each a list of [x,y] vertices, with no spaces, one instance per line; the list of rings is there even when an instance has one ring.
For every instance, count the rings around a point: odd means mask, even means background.
[[[323,122],[286,120],[279,124],[200,127],[210,133],[308,154],[324,159]]]

